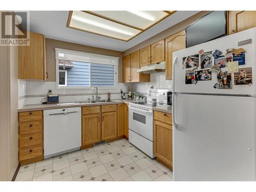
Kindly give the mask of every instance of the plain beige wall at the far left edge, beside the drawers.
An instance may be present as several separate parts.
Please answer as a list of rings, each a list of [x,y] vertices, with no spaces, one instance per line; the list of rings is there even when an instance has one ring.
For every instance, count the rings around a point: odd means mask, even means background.
[[[18,166],[18,48],[0,46],[0,58],[0,181],[10,181]]]

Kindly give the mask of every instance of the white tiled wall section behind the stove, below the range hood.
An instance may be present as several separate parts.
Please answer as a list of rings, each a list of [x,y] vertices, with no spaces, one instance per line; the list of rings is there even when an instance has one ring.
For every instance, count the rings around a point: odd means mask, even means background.
[[[151,74],[151,82],[131,83],[133,91],[146,94],[147,89],[154,88],[172,89],[172,80],[165,80],[165,72]]]

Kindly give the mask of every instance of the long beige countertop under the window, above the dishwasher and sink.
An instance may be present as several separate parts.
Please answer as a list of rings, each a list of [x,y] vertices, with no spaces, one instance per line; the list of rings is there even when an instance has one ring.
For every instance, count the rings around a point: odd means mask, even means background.
[[[134,100],[132,99],[112,99],[114,102],[95,102],[95,103],[79,103],[78,101],[74,102],[65,102],[59,104],[27,104],[22,108],[18,109],[18,112],[27,112],[27,111],[37,111],[37,110],[53,110],[61,108],[74,108],[77,106],[95,106],[95,105],[105,105],[105,104],[119,104],[119,103],[130,103]],[[72,103],[72,104],[69,104]],[[74,104],[73,104],[74,103]]]

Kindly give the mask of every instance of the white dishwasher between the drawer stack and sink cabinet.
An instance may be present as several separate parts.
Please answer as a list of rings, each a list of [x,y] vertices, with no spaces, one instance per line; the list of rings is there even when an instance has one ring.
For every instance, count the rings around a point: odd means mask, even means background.
[[[44,157],[79,150],[81,108],[44,110]]]

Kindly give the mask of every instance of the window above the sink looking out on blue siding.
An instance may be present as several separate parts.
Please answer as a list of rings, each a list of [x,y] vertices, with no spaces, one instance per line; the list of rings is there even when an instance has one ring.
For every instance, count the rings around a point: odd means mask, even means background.
[[[55,49],[57,89],[116,88],[118,57]]]

